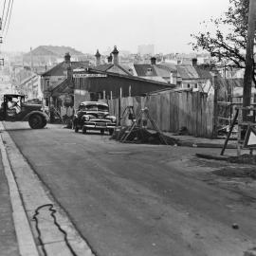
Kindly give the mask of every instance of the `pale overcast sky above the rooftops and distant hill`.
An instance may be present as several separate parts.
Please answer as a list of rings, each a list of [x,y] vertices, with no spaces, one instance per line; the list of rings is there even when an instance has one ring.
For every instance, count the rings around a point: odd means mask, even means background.
[[[143,44],[154,44],[156,52],[191,52],[190,35],[200,30],[200,22],[229,6],[229,0],[13,1],[2,50],[52,45],[83,53],[113,46],[137,52]]]

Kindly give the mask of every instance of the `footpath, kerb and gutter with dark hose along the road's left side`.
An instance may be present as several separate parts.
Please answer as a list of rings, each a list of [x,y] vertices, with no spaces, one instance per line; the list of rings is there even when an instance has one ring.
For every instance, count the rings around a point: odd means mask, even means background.
[[[2,122],[0,131],[0,255],[93,256]]]

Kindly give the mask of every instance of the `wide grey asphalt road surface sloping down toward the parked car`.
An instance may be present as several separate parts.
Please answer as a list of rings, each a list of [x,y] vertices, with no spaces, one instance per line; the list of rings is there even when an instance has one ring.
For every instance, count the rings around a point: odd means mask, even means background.
[[[235,256],[256,243],[255,182],[216,176],[238,166],[193,156],[212,150],[6,126],[97,255]]]

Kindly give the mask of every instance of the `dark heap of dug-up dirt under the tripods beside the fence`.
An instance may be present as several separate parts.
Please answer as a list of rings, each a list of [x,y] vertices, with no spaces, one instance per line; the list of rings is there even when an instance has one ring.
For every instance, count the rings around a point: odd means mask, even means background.
[[[121,141],[128,133],[129,127],[120,127],[116,129],[111,138]],[[124,142],[166,145],[165,141],[168,145],[178,145],[178,140],[173,137],[161,136],[159,133],[150,132],[145,128],[135,127]]]

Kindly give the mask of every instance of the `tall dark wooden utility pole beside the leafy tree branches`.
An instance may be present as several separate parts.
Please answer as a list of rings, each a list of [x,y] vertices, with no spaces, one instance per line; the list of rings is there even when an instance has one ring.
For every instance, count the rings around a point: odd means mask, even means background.
[[[247,30],[247,57],[244,76],[243,107],[250,105],[251,82],[253,76],[253,47],[256,27],[256,0],[249,0],[248,30]],[[247,111],[243,111],[243,120],[247,120]]]

